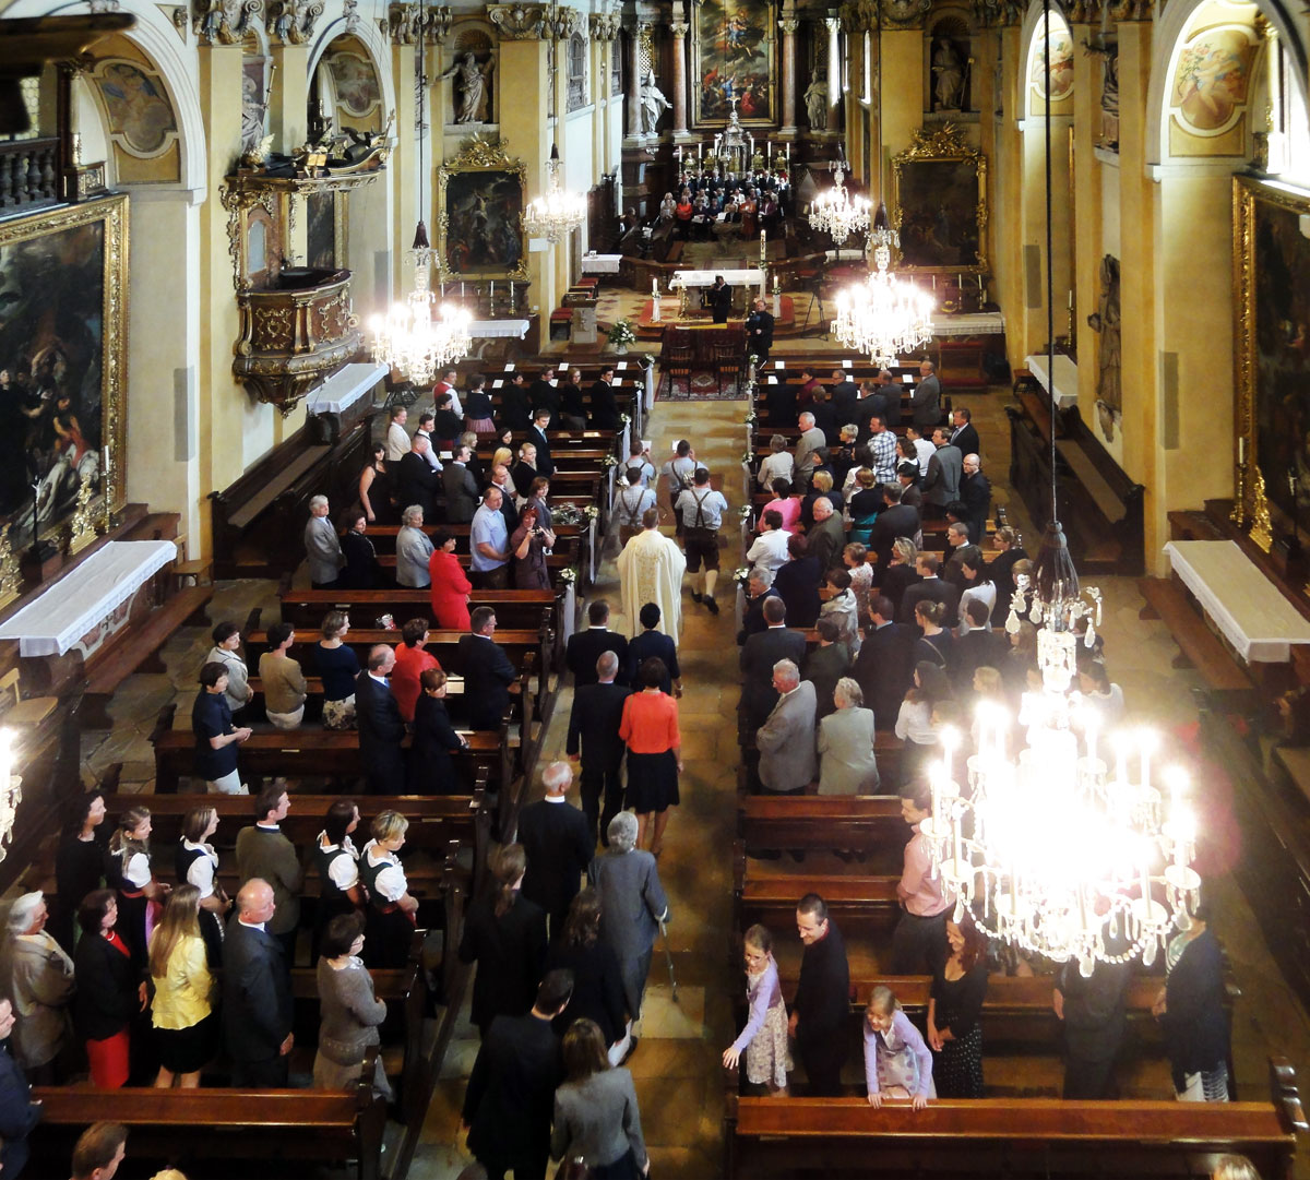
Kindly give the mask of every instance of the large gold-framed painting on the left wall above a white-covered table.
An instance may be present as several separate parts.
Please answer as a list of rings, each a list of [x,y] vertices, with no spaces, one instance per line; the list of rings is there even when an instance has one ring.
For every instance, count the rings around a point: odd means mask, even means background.
[[[126,498],[127,198],[0,223],[0,529],[58,536]]]

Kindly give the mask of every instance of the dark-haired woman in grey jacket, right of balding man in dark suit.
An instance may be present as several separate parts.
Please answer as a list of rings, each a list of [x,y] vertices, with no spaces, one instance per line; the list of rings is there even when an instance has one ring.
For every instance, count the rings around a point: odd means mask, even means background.
[[[322,1023],[314,1054],[314,1088],[345,1090],[364,1069],[369,1048],[381,1044],[377,1027],[386,1019],[386,1002],[377,998],[373,977],[359,952],[364,948],[364,919],[338,914],[322,938],[316,980]],[[373,1065],[373,1094],[392,1100],[383,1054]]]

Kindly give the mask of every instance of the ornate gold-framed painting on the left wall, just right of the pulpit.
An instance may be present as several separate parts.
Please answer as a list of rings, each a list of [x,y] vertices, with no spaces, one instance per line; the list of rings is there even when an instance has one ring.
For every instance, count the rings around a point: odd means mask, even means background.
[[[523,225],[527,166],[504,140],[474,138],[436,172],[441,274],[451,279],[528,278]]]

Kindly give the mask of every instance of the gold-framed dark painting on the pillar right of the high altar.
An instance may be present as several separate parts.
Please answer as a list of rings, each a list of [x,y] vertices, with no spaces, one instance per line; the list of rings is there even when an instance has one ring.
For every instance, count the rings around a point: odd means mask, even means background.
[[[985,274],[986,156],[948,123],[914,132],[892,157],[892,225],[900,268]]]

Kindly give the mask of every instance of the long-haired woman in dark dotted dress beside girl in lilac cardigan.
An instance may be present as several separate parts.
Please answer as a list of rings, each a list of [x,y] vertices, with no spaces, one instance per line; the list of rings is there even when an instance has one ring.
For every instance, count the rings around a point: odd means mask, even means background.
[[[986,935],[968,910],[946,923],[946,957],[933,972],[927,1044],[935,1054],[938,1097],[982,1097],[982,1025],[986,999]]]

